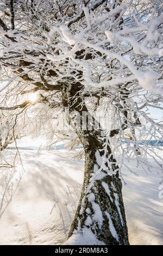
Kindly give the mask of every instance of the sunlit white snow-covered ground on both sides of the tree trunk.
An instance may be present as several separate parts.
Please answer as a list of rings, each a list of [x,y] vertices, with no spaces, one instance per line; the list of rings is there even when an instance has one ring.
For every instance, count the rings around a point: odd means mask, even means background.
[[[7,157],[15,150],[7,150]],[[60,245],[76,211],[83,181],[84,160],[74,160],[73,151],[20,151],[23,170],[7,184],[5,173],[0,175],[0,244],[1,245]],[[151,159],[152,161],[152,159]],[[134,163],[130,162],[134,170]],[[136,170],[139,176],[123,170],[127,182],[123,186],[129,240],[131,245],[163,244],[163,199],[160,199],[156,170],[148,173]],[[5,175],[4,175],[5,174]],[[4,186],[7,184],[7,186]],[[17,189],[15,190],[17,186]],[[12,200],[8,202],[11,198]],[[4,210],[5,206],[7,208]],[[4,210],[4,211],[3,211]]]

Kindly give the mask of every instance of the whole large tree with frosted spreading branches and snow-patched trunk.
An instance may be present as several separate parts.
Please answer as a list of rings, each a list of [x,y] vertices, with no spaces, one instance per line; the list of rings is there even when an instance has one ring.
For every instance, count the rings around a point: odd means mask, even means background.
[[[154,150],[139,144],[162,137],[161,122],[147,112],[162,109],[161,1],[4,0],[0,14],[0,143],[35,125],[47,135],[76,133],[85,170],[68,238],[128,245],[124,157],[149,169],[144,157],[153,153],[162,168]],[[53,126],[64,109],[71,132]]]

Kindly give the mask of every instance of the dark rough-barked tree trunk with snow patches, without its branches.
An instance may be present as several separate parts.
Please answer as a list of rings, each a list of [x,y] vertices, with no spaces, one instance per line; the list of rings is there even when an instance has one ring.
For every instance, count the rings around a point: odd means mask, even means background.
[[[73,111],[87,112],[78,93],[80,89],[80,84],[73,84],[62,92],[64,105],[69,107],[70,114]],[[78,100],[72,104],[74,95]],[[82,118],[80,121],[82,123]],[[96,122],[95,119],[93,121]],[[74,234],[84,235],[89,230],[89,234],[95,237],[93,244],[129,245],[122,182],[109,140],[100,130],[90,131],[89,124],[82,130],[74,115],[70,115],[70,124],[84,147],[85,170],[82,193],[68,238]]]

